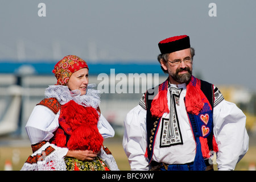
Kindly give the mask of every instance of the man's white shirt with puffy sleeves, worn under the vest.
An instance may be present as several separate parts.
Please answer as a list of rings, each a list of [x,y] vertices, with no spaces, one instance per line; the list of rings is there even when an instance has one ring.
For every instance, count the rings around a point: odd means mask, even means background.
[[[169,114],[164,113],[156,133],[152,160],[167,164],[193,162],[196,143],[184,104],[187,89],[185,84],[171,84],[171,86],[182,88],[176,111],[183,144],[160,147],[161,124],[163,118],[169,118]],[[246,117],[235,104],[225,101],[220,94],[218,92],[218,96],[216,95],[213,109],[213,133],[219,149],[217,164],[219,170],[233,170],[248,150],[249,137],[245,129]],[[169,92],[167,92],[167,98],[168,106],[170,106]],[[123,148],[129,159],[131,170],[148,170],[150,167],[147,158],[144,156],[147,147],[146,110],[141,105],[134,107],[126,115],[124,125]]]

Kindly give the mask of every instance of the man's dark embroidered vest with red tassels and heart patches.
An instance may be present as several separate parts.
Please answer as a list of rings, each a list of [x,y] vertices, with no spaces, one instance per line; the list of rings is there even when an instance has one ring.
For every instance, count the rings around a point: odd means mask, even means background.
[[[148,158],[148,163],[151,163],[152,161],[155,137],[156,133],[158,133],[162,115],[163,113],[170,112],[167,105],[167,90],[168,80],[160,84],[158,88],[149,89],[145,94],[147,109],[147,150],[145,156]],[[152,100],[153,96],[156,96],[154,100]],[[191,96],[197,98],[194,99]],[[187,94],[184,100],[197,146],[194,163],[198,168],[196,167],[195,169],[203,170],[205,167],[204,158],[209,158],[210,151],[218,151],[217,144],[213,136],[213,85],[192,76],[191,82],[187,85]],[[190,105],[187,102],[189,102]],[[182,144],[182,141],[180,143]]]

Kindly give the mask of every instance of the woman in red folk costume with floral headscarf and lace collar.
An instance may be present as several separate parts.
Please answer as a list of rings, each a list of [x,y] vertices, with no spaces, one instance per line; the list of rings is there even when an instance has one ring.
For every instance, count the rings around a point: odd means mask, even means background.
[[[114,130],[100,113],[100,93],[88,84],[88,65],[78,56],[60,60],[57,84],[46,89],[26,125],[32,151],[22,170],[118,170],[103,146]]]

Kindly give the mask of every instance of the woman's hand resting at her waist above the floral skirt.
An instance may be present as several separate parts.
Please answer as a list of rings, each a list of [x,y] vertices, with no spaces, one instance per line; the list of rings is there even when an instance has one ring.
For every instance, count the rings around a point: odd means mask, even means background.
[[[67,155],[65,155],[65,157],[76,158],[82,161],[93,160],[99,153],[100,151],[96,153],[93,152],[92,150],[68,150]]]

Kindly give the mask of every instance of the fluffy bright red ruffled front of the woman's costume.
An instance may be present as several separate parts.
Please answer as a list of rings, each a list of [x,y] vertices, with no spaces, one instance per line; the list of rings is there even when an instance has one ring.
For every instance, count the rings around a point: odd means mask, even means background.
[[[100,151],[103,137],[98,131],[99,115],[93,107],[84,107],[75,101],[61,106],[59,124],[70,137],[66,144],[66,135],[59,128],[52,143],[70,150]]]

